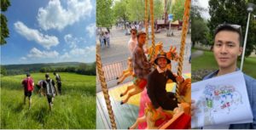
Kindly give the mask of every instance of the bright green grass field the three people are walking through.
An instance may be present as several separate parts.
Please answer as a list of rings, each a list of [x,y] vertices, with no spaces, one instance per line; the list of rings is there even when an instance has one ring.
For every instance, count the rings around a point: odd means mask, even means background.
[[[96,76],[59,73],[62,95],[55,96],[49,111],[46,97],[32,93],[32,109],[23,105],[21,81],[25,75],[1,77],[1,128],[96,128]],[[44,73],[32,73],[35,84]],[[53,74],[50,74],[54,78]],[[55,79],[55,78],[54,78]]]

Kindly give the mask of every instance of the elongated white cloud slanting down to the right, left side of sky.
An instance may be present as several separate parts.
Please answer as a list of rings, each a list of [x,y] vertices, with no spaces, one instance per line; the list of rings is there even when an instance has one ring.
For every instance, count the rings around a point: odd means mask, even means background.
[[[27,40],[38,42],[38,44],[47,49],[59,44],[57,37],[44,35],[38,30],[28,28],[20,21],[15,22],[15,31],[20,33],[21,36],[26,37]]]

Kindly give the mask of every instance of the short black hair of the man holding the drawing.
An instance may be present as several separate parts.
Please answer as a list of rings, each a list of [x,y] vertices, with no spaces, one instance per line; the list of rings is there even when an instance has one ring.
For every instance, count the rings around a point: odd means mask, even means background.
[[[241,25],[231,25],[231,24],[218,25],[218,27],[216,28],[216,30],[214,32],[214,39],[219,31],[233,31],[233,32],[238,33],[238,35],[239,35],[238,40],[239,40],[240,46],[241,46],[241,43],[242,43]]]

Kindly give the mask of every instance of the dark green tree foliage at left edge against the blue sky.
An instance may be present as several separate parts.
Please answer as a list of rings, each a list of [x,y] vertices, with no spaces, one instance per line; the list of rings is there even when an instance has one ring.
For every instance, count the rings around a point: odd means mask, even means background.
[[[0,29],[0,34],[1,34],[1,40],[0,40],[0,45],[6,44],[5,38],[9,37],[9,29],[7,26],[7,18],[2,12],[7,11],[8,7],[10,6],[9,0],[1,0],[1,29]]]

